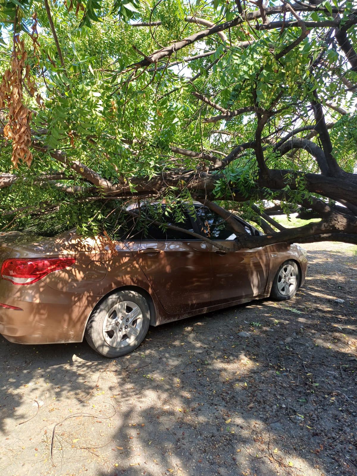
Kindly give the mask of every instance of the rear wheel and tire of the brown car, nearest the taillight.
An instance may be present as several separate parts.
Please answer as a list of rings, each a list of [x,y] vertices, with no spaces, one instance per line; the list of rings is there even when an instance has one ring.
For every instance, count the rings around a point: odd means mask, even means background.
[[[150,310],[136,291],[117,291],[96,307],[84,336],[92,349],[105,357],[122,357],[135,350],[146,336]]]

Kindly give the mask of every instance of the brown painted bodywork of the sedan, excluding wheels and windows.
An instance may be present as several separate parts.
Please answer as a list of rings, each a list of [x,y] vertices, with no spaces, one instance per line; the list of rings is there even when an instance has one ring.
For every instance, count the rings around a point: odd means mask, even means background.
[[[259,233],[240,221],[247,232]],[[204,233],[196,220],[193,227]],[[306,253],[297,245],[233,251],[230,236],[217,239],[232,249],[222,252],[188,235],[168,238],[115,241],[113,253],[101,240],[83,239],[74,230],[55,238],[0,234],[0,333],[23,344],[81,342],[93,309],[118,290],[139,293],[149,307],[149,324],[158,326],[268,297],[279,268],[288,261],[296,263],[297,288],[305,279]],[[29,262],[58,266],[58,258],[64,267],[43,276],[40,270],[35,281],[6,274]]]

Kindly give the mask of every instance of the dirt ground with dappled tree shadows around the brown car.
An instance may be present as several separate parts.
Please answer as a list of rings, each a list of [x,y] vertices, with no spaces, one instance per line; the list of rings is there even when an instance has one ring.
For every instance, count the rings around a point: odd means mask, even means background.
[[[152,327],[121,359],[0,337],[0,474],[356,475],[357,247],[306,248],[295,298]]]

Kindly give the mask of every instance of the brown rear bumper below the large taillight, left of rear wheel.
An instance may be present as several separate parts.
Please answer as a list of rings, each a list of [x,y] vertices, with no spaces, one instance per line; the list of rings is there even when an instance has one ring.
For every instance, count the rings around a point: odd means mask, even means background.
[[[54,291],[42,281],[15,286],[0,280],[0,334],[10,342],[81,342],[87,318],[99,296]]]

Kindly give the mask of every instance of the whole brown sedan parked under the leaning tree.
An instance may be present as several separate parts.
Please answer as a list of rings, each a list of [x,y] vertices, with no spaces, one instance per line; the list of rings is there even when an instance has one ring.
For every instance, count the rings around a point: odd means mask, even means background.
[[[175,225],[172,215],[163,217]],[[119,357],[139,346],[149,325],[268,296],[289,299],[302,286],[307,259],[299,246],[234,251],[236,234],[210,209],[195,206],[182,217],[178,227],[209,233],[232,251],[152,221],[136,231],[132,216],[115,250],[75,230],[54,238],[0,234],[0,333],[22,344],[86,337],[100,354]]]

